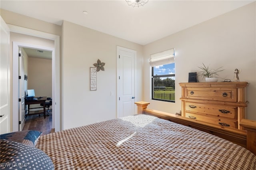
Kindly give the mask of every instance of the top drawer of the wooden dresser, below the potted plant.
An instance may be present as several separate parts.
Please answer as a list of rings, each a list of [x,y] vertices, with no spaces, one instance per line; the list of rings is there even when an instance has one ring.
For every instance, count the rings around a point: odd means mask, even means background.
[[[212,87],[186,87],[185,98],[203,99],[210,101],[237,101],[236,88],[212,88]]]

